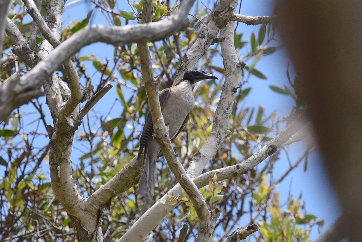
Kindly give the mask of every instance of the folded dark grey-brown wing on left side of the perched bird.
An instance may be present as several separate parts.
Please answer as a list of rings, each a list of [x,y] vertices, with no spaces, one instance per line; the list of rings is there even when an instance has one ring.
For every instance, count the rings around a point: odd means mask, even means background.
[[[169,88],[163,89],[160,92],[159,101],[160,101],[160,105],[161,105],[161,110],[162,110],[162,107],[165,105],[165,100],[167,99],[170,92],[171,92],[171,90]],[[153,134],[153,121],[152,121],[151,112],[149,111],[147,114],[147,117],[146,117],[146,121],[144,122],[144,125],[143,125],[142,135],[139,139],[139,151],[138,151],[137,159],[139,159],[141,157],[143,148],[146,146],[147,140],[148,140],[148,138],[150,138],[150,136],[152,134]]]

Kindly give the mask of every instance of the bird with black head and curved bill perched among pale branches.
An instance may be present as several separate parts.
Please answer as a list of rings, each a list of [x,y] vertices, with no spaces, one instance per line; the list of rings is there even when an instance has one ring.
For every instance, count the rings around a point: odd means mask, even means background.
[[[159,93],[162,116],[169,129],[170,140],[173,141],[186,126],[190,111],[194,106],[192,85],[205,79],[218,79],[205,71],[186,71],[180,83],[165,88]],[[156,161],[161,151],[160,145],[153,139],[153,122],[149,111],[144,122],[140,137],[140,146],[137,159],[139,160],[144,149],[142,174],[139,181],[138,193],[144,197],[153,197],[156,179]]]

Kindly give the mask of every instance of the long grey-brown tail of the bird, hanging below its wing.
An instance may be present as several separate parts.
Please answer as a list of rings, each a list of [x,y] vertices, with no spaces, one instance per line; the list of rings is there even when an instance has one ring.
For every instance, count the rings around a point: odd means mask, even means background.
[[[144,149],[143,168],[138,187],[141,196],[152,198],[155,192],[157,154],[158,152],[154,150],[148,150],[147,146]]]

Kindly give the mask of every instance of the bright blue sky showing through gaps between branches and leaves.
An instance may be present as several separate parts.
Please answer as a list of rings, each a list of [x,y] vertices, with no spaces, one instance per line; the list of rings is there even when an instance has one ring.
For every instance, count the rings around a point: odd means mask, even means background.
[[[133,1],[131,1],[133,2]],[[206,1],[205,1],[206,2]],[[70,1],[67,2],[69,4]],[[124,4],[124,6],[123,6]],[[243,0],[241,14],[249,16],[261,16],[261,15],[271,15],[273,11],[272,7],[273,1],[270,0]],[[119,10],[128,10],[128,5],[126,1],[118,1]],[[82,20],[86,17],[87,13],[91,10],[92,5],[86,1],[79,1],[76,4],[66,7],[63,14],[63,23],[67,23],[70,20],[74,19]],[[123,8],[124,7],[124,8]],[[191,16],[190,16],[191,18]],[[105,24],[108,23],[105,21],[105,18],[102,16],[102,13],[95,10],[91,18],[90,24]],[[257,33],[259,26],[247,26],[245,24],[239,24],[239,30],[243,32],[243,39],[248,41],[251,32]],[[281,47],[281,41],[275,43],[277,47]],[[106,45],[104,43],[94,43],[92,45],[84,47],[78,56],[94,54],[98,58],[107,58],[111,59],[113,57],[113,46]],[[246,51],[245,51],[246,52]],[[265,113],[271,113],[274,110],[277,111],[278,117],[288,116],[291,108],[294,106],[294,101],[289,96],[282,96],[280,94],[274,93],[269,89],[269,85],[278,85],[283,86],[287,84],[288,80],[286,77],[286,66],[288,62],[288,55],[285,48],[281,47],[272,55],[267,55],[261,58],[257,63],[256,68],[261,70],[264,75],[268,77],[267,80],[261,80],[255,77],[252,77],[249,83],[245,84],[243,88],[252,87],[252,91],[249,93],[245,99],[245,107],[258,107],[262,104],[265,107]],[[89,64],[88,64],[89,63]],[[88,75],[92,74],[94,70],[91,62],[88,62]],[[221,63],[221,61],[220,61]],[[221,65],[221,64],[219,64]],[[94,70],[96,73],[96,70]],[[97,80],[97,75],[94,75],[94,80]],[[99,78],[98,78],[99,79]],[[107,95],[101,99],[101,101],[94,107],[94,110],[105,113],[105,107],[110,107],[110,103],[113,103],[116,98],[115,88],[111,89]],[[45,100],[43,101],[45,104]],[[118,103],[116,104],[121,107]],[[27,105],[22,107],[22,110],[27,110],[32,107]],[[45,108],[45,106],[43,107]],[[120,110],[114,108],[110,113],[110,118],[118,117]],[[47,119],[50,121],[49,111],[47,112]],[[35,125],[35,124],[33,124]],[[32,128],[32,125],[28,126]],[[288,148],[290,158],[292,160],[298,159],[298,157],[305,150],[305,144],[303,142],[293,144]],[[73,160],[77,160],[80,157],[80,153],[77,150],[73,150],[72,154]],[[44,164],[44,169],[46,169],[47,164]],[[281,175],[285,170],[285,167],[288,166],[286,160],[285,163],[278,162],[276,172],[280,174],[275,174],[275,177]],[[2,169],[2,167],[0,167]],[[0,171],[0,174],[2,171]],[[281,193],[281,201],[285,201],[289,190],[296,197],[300,193],[303,194],[302,200],[305,201],[307,212],[316,214],[319,219],[325,219],[325,226],[328,228],[339,216],[340,207],[336,201],[334,191],[329,183],[327,175],[324,171],[323,162],[319,154],[313,153],[308,159],[308,170],[303,171],[303,164],[300,165],[296,170],[294,170],[290,175],[287,176],[285,181],[279,185],[278,190]],[[243,226],[243,224],[241,224]],[[318,237],[317,231],[313,231],[312,239]]]

